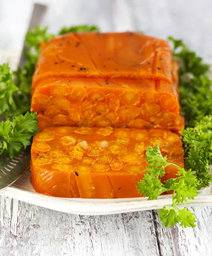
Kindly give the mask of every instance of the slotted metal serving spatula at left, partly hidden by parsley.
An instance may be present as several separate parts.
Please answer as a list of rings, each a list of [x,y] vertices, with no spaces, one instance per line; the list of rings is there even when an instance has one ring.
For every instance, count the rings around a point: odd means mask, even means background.
[[[34,26],[39,25],[41,23],[46,10],[47,6],[45,5],[34,5],[28,30],[32,29]],[[18,65],[20,68],[22,67],[23,62],[25,61],[24,51],[25,45],[23,46]],[[10,157],[3,157],[0,160],[0,190],[10,186],[29,169],[30,158],[30,147],[27,147],[26,149],[22,149],[19,155],[12,159]]]

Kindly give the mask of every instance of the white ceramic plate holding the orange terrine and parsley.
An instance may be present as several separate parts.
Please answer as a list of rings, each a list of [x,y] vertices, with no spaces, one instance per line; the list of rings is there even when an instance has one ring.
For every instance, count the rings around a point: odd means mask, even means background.
[[[17,66],[20,52],[0,51],[0,63],[8,62],[14,69]],[[82,198],[54,198],[41,195],[34,191],[30,183],[30,171],[28,170],[16,183],[3,189],[0,195],[8,196],[30,204],[81,215],[106,215],[122,212],[144,211],[160,209],[170,206],[171,195],[160,196],[158,200],[147,198],[121,198],[121,199],[82,199]],[[201,189],[195,200],[189,201],[185,206],[209,206],[212,205],[212,186]],[[182,205],[182,206],[184,206]]]

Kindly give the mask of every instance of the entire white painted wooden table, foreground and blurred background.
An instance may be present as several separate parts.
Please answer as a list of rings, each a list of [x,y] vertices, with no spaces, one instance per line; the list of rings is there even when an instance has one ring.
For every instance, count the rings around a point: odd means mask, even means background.
[[[0,0],[0,48],[21,49],[33,0]],[[40,0],[51,32],[95,23],[103,31],[142,30],[183,38],[212,61],[211,0]],[[59,209],[58,209],[59,210]],[[212,207],[191,209],[197,227],[165,228],[157,211],[107,216],[57,212],[0,197],[0,256],[212,255]]]

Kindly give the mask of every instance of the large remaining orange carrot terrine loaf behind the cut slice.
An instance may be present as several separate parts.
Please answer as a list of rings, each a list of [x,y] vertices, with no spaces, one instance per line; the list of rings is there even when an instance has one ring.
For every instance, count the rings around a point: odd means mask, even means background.
[[[184,128],[168,43],[140,33],[69,33],[42,45],[31,111],[50,126]]]

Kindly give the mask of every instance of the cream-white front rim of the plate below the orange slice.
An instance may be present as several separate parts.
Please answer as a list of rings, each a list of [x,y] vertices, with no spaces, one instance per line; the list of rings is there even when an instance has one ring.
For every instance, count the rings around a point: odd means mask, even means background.
[[[56,198],[15,186],[3,189],[0,195],[34,204],[40,207],[77,215],[110,215],[125,212],[161,209],[172,204],[172,196],[160,196],[157,200],[147,198],[85,199]],[[198,195],[181,207],[212,206],[212,195]]]

